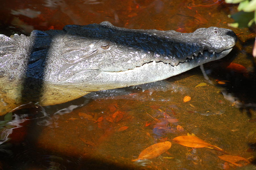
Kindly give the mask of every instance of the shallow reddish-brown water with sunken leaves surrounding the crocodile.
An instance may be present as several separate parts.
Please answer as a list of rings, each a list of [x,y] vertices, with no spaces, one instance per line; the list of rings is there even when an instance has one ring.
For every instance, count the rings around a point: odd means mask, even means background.
[[[104,20],[125,28],[193,32],[209,26],[230,28],[227,15],[234,12],[236,6],[221,0],[27,0],[2,3],[0,21],[5,35]],[[256,118],[251,55],[255,33],[231,29],[239,38],[236,47],[221,61],[205,65],[212,84],[195,68],[168,79],[178,92],[149,95],[148,90],[133,89],[127,95],[16,111],[12,123],[19,125],[7,126],[1,135],[1,140],[11,140],[0,145],[0,169],[256,169],[253,164],[225,163],[218,158],[220,151],[191,150],[172,142],[193,133],[255,164],[255,121],[247,121]],[[246,70],[227,67],[230,62]],[[227,82],[218,84],[220,80]],[[200,83],[206,85],[195,87]],[[191,100],[183,102],[185,96]],[[144,162],[131,161],[148,146],[166,140],[172,142],[168,152]]]

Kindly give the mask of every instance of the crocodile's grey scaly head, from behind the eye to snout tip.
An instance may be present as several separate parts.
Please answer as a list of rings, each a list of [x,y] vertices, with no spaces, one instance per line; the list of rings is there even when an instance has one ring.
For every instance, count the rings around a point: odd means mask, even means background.
[[[105,21],[63,30],[62,46],[50,49],[60,55],[54,62],[50,58],[45,78],[63,86],[75,83],[87,92],[166,79],[226,56],[237,41],[232,30],[217,27],[179,33],[119,28]]]

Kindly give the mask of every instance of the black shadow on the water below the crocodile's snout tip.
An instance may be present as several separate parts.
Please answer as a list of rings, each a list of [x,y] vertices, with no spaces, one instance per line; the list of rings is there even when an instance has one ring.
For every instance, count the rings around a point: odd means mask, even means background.
[[[252,45],[254,40],[255,39],[252,38],[246,42],[242,42],[241,40],[238,40],[238,42],[240,42],[243,47],[247,47]],[[212,79],[228,80],[226,84],[219,84],[217,86],[229,94],[230,97],[234,99],[234,102],[238,101],[238,105],[236,106],[240,108],[241,113],[247,114],[248,118],[252,118],[251,111],[256,108],[256,63],[251,51],[248,52],[244,50],[244,55],[246,57],[243,58],[246,58],[246,60],[251,62],[251,65],[253,65],[252,70],[239,72],[227,69],[226,67],[238,57],[238,53],[241,53],[241,49],[234,47],[228,56],[212,62],[216,63],[213,69],[210,68],[212,67],[211,63],[207,63],[205,65],[212,70],[212,73],[210,74]],[[247,65],[244,66],[247,68]],[[236,69],[236,67],[233,69]]]

